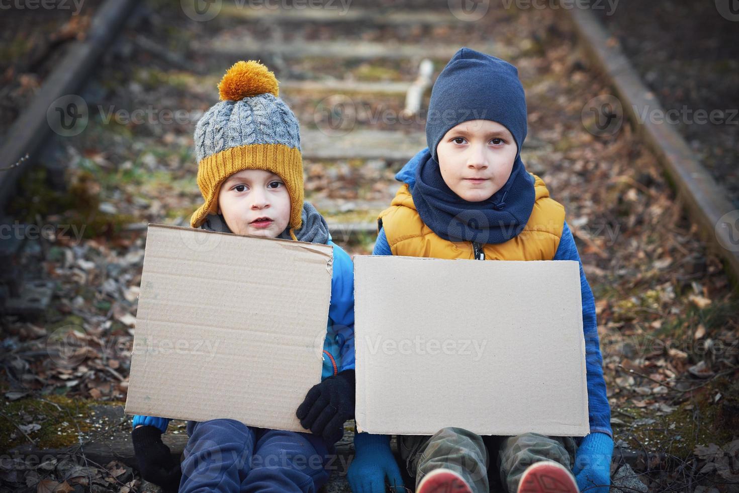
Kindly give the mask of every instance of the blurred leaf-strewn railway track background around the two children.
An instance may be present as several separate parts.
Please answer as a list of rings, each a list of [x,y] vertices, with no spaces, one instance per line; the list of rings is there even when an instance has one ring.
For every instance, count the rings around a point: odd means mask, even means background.
[[[460,47],[525,87],[523,161],[596,296],[614,484],[739,491],[738,1],[0,0],[0,27],[3,491],[154,489],[122,408],[146,227],[200,205],[228,67],[275,72],[306,199],[369,254]]]

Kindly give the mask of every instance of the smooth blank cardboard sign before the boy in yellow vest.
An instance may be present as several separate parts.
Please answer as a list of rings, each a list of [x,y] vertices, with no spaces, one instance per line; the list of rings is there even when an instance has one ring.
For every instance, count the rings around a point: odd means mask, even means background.
[[[584,436],[579,264],[355,256],[361,431]]]

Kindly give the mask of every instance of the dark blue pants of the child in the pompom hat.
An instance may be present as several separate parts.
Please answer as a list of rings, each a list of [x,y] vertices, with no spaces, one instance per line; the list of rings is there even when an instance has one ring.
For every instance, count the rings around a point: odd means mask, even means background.
[[[246,426],[232,419],[188,421],[182,492],[315,493],[335,447],[311,433]]]

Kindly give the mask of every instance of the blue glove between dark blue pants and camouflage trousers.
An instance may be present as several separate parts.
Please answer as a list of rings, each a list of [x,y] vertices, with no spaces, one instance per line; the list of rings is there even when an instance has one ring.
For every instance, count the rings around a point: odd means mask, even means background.
[[[354,460],[347,479],[354,493],[385,493],[385,478],[393,492],[405,492],[398,463],[390,450],[389,435],[355,433]]]

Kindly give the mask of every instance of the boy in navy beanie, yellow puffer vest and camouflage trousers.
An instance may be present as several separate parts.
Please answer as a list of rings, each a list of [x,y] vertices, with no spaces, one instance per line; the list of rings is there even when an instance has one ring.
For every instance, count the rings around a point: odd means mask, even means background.
[[[526,103],[517,69],[499,58],[459,50],[433,86],[428,149],[396,175],[403,186],[378,217],[373,254],[579,262],[565,208],[525,170],[520,157],[525,136]],[[511,493],[608,491],[610,407],[593,293],[582,262],[580,285],[590,434],[481,437],[450,427],[431,437],[398,436],[417,493],[490,491],[491,455],[497,455],[492,480],[500,475],[500,486]],[[359,433],[355,452],[348,474],[355,492],[384,492],[386,478],[403,491],[389,436]]]

